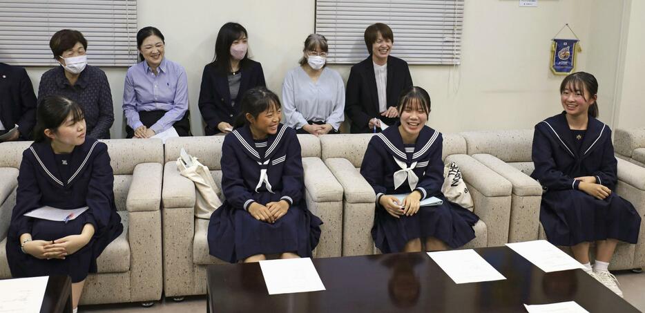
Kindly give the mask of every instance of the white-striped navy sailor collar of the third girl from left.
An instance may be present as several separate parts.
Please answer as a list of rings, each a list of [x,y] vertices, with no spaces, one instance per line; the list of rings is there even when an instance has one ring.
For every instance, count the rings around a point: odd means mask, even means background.
[[[425,156],[432,151],[430,150],[430,147],[432,147],[432,144],[434,144],[436,139],[439,137],[439,131],[435,131],[428,126],[423,126],[423,129],[421,129],[421,132],[418,134],[418,138],[416,138],[412,157],[408,158],[408,154],[405,153],[405,148],[403,146],[403,138],[401,138],[401,133],[398,131],[399,124],[400,122],[396,122],[396,124],[389,126],[385,131],[376,134],[376,137],[380,139],[378,141],[382,142],[385,149],[398,160],[415,162],[425,158]]]

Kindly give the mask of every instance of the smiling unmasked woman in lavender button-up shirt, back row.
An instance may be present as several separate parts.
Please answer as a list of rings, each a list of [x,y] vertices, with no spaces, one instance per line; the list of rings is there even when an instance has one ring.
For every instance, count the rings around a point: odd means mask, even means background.
[[[127,137],[149,138],[175,127],[191,135],[186,70],[164,58],[164,35],[148,26],[137,32],[141,61],[128,68],[123,91]]]

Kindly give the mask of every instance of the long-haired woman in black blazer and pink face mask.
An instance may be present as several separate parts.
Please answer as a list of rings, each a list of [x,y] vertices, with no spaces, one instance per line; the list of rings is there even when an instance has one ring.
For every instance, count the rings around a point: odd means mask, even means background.
[[[265,86],[262,65],[249,59],[247,30],[238,23],[225,23],[215,41],[215,60],[204,66],[200,88],[200,112],[206,135],[229,133],[240,113],[242,94]]]

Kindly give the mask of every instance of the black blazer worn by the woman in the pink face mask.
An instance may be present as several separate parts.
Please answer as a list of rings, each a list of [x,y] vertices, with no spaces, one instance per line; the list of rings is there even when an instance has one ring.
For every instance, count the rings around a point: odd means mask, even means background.
[[[215,68],[212,63],[204,66],[199,106],[206,122],[204,128],[206,135],[220,133],[218,129],[220,122],[227,122],[231,126],[234,124],[233,120],[240,113],[240,100],[244,91],[256,86],[266,86],[262,65],[251,59],[247,59],[245,63],[240,69],[242,82],[240,82],[238,97],[235,99],[231,99],[227,74]],[[231,105],[233,101],[235,104]]]

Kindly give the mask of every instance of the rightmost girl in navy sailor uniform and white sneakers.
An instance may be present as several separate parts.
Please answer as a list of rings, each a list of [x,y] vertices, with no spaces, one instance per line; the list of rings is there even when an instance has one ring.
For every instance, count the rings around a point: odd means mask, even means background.
[[[535,125],[531,177],[544,189],[540,222],[549,242],[571,247],[588,273],[622,296],[607,267],[618,241],[637,242],[641,218],[630,202],[613,193],[617,161],[611,129],[596,119],[597,90],[589,73],[573,73],[562,81],[564,111]]]

